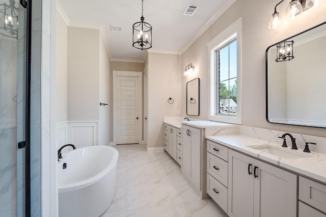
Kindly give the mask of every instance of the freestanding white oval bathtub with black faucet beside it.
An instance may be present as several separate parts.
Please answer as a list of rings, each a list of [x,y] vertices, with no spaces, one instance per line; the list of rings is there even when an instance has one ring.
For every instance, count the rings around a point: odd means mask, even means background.
[[[57,167],[60,217],[99,217],[105,212],[116,190],[118,156],[110,146],[88,146],[63,154]]]

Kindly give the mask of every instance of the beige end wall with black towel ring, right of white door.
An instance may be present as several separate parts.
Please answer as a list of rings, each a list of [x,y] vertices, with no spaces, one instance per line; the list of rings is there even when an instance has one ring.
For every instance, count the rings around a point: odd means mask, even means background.
[[[177,110],[181,110],[181,71],[180,55],[148,53],[149,148],[163,147],[163,117],[180,115]],[[168,103],[170,97],[173,104]]]

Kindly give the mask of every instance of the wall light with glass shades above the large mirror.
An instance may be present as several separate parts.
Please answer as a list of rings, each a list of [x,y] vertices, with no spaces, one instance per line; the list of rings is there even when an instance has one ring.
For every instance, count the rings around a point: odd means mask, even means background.
[[[271,15],[268,22],[268,28],[274,29],[283,24],[283,20],[280,13],[276,11],[276,7],[280,5],[283,1],[284,0],[282,0],[275,6],[274,13]],[[295,16],[301,14],[309,8],[316,8],[318,5],[321,5],[324,2],[324,0],[319,0],[319,3],[318,0],[291,0],[285,10],[285,18],[293,19]]]

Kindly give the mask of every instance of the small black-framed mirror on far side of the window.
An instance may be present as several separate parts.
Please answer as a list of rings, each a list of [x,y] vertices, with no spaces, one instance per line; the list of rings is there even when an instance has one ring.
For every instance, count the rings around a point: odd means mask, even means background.
[[[187,115],[199,115],[199,78],[187,82]]]

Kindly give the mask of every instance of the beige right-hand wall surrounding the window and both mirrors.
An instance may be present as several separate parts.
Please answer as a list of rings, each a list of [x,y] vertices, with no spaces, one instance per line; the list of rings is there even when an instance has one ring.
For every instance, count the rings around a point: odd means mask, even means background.
[[[265,119],[265,50],[278,41],[310,28],[326,20],[326,4],[312,8],[285,21],[278,29],[268,29],[268,20],[277,2],[274,1],[236,1],[204,34],[200,36],[183,54],[181,68],[192,63],[196,73],[183,77],[181,82],[182,99],[185,99],[186,82],[200,78],[200,116],[208,118],[209,96],[209,53],[207,43],[225,28],[242,17],[242,125],[304,133],[325,137],[325,130],[298,126],[285,126],[268,123]],[[277,9],[284,15],[287,3]],[[182,70],[180,70],[180,74]],[[182,115],[186,115],[185,101],[182,101]],[[150,129],[150,128],[149,128]]]

